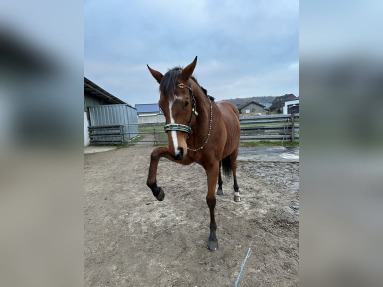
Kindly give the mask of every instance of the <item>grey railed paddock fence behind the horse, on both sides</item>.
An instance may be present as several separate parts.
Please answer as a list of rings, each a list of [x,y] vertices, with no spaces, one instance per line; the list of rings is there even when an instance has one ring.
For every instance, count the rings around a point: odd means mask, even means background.
[[[299,114],[240,117],[240,140],[299,140]],[[89,126],[90,144],[166,144],[164,122]]]

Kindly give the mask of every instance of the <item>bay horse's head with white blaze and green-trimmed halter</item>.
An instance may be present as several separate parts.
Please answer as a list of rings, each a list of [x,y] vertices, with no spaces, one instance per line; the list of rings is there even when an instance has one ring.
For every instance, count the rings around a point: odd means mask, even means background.
[[[197,57],[183,69],[168,70],[164,75],[157,70],[148,69],[159,83],[159,107],[165,115],[169,154],[181,160],[187,153],[186,139],[192,133],[191,125],[195,120],[195,100],[191,86],[191,75],[197,63]],[[193,116],[194,115],[194,116]]]

